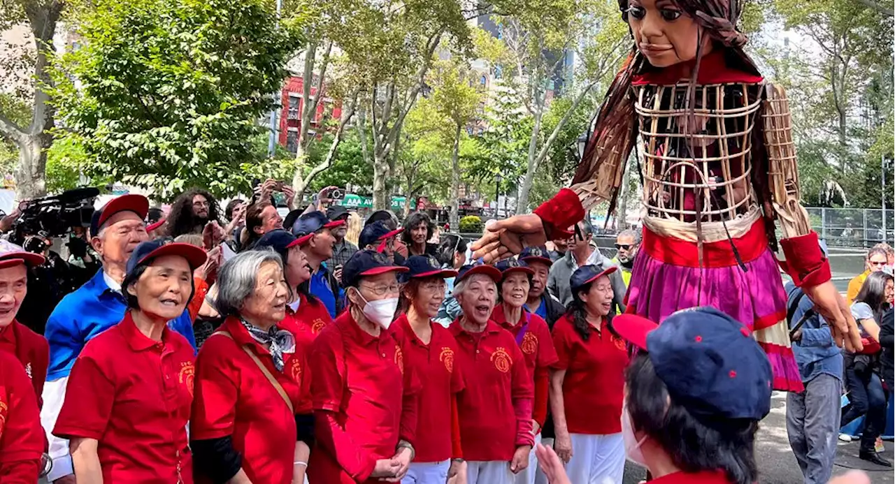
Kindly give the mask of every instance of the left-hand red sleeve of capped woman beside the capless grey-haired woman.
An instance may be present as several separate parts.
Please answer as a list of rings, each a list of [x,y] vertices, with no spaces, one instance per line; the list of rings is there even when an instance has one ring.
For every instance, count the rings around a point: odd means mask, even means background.
[[[72,367],[53,434],[56,437],[99,439],[106,431],[115,403],[115,383],[109,379],[114,369],[94,355],[88,344]]]

